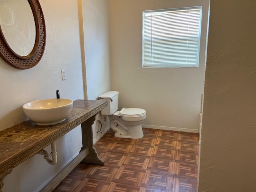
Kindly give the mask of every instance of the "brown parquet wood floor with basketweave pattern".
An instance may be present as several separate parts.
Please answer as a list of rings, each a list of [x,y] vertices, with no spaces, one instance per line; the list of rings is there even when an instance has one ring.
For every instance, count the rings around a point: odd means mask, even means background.
[[[144,137],[96,144],[105,165],[80,163],[54,192],[196,192],[198,134],[143,128]]]

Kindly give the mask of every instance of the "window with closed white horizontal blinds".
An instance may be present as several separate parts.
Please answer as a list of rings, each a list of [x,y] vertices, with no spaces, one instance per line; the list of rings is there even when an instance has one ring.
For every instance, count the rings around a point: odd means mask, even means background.
[[[198,67],[201,9],[143,11],[142,67]]]

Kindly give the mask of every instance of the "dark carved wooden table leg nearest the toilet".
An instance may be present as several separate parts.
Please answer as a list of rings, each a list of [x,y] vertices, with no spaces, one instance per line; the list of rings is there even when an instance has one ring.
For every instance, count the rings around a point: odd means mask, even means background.
[[[104,162],[99,158],[96,149],[93,146],[93,135],[92,135],[92,124],[95,121],[96,115],[92,116],[85,122],[81,124],[82,126],[82,143],[83,146],[80,150],[84,150],[88,148],[89,154],[82,160],[84,163],[92,163],[92,164],[99,164],[104,165]]]

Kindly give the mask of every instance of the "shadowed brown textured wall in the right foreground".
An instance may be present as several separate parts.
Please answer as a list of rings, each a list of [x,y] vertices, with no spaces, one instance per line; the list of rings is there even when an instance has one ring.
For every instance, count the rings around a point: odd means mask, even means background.
[[[211,0],[199,192],[256,191],[255,8]]]

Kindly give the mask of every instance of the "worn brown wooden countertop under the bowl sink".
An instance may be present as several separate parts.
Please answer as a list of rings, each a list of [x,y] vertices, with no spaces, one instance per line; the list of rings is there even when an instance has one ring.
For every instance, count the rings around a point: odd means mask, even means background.
[[[38,126],[27,120],[0,131],[0,176],[6,175],[7,170],[24,162],[107,105],[108,102],[102,100],[76,100],[68,118],[59,124]]]

